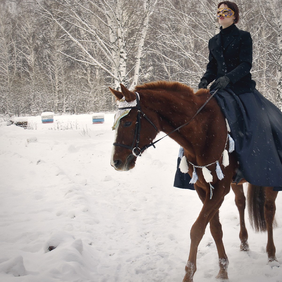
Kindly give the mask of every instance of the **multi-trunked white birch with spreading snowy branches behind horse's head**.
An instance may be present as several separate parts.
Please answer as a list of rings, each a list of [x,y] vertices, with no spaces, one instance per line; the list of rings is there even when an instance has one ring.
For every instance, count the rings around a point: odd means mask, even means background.
[[[136,85],[140,61],[156,0],[36,1],[33,9],[58,25],[80,49],[65,56],[99,67],[119,83]],[[135,55],[137,54],[137,55]],[[129,61],[130,60],[130,61]],[[127,66],[129,65],[129,70]]]

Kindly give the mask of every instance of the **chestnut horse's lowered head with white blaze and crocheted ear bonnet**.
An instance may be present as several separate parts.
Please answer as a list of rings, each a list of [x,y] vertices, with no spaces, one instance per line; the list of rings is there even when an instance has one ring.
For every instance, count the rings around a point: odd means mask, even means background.
[[[119,101],[113,125],[115,140],[111,166],[118,171],[128,171],[134,168],[136,158],[153,141],[158,130],[151,121],[152,114],[148,117],[148,110],[141,107],[139,94],[120,86],[121,92],[110,88]]]

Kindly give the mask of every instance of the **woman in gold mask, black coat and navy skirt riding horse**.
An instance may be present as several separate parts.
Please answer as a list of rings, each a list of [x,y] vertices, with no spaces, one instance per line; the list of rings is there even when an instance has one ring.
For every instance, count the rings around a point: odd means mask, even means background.
[[[252,38],[239,30],[238,6],[230,1],[217,5],[219,34],[209,40],[209,62],[199,88],[210,86],[228,120],[239,168],[233,181],[246,179],[258,186],[282,190],[282,113],[256,89],[252,68]],[[178,166],[182,157],[180,149]],[[193,189],[188,173],[179,167],[174,186]]]

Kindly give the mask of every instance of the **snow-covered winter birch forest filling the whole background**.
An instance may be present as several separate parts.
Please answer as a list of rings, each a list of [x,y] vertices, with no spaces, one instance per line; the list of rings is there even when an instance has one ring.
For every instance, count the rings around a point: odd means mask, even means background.
[[[1,0],[0,113],[116,109],[108,87],[155,80],[195,90],[219,32],[214,0]],[[282,105],[282,2],[237,0],[257,89]]]

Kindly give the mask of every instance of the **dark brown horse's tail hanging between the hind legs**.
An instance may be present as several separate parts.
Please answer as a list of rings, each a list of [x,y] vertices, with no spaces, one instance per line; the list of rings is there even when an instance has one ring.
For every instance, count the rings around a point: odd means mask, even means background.
[[[263,186],[256,186],[248,183],[248,211],[252,228],[255,232],[266,231],[264,213],[265,191]]]

